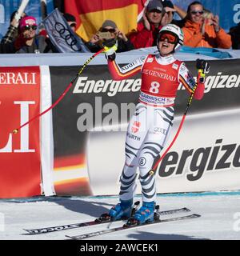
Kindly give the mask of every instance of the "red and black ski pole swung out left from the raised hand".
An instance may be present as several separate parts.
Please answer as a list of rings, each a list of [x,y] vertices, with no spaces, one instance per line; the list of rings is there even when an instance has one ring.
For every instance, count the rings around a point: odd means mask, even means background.
[[[89,64],[89,62],[95,58],[98,54],[101,54],[105,49],[99,50],[97,53],[93,54],[89,59],[86,60],[86,62],[83,64],[82,68],[78,71],[78,74],[72,79],[70,84],[66,87],[66,89],[63,91],[63,93],[60,95],[60,97],[52,104],[49,108],[46,110],[42,111],[41,113],[35,115],[33,118],[30,118],[28,122],[23,123],[21,126],[13,130],[13,134],[18,134],[18,130],[22,129],[22,127],[28,125],[30,122],[33,122],[35,119],[40,118],[43,114],[46,114],[48,111],[52,110],[54,106],[57,106],[59,102],[62,101],[62,98],[66,96],[66,93],[70,90],[70,87],[73,85],[75,80],[78,78],[80,74],[82,74],[82,71],[86,68],[86,66]]]

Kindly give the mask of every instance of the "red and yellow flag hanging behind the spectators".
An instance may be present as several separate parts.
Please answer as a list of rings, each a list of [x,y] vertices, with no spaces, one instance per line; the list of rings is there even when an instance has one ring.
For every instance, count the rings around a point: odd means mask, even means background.
[[[124,34],[137,30],[138,14],[147,0],[67,0],[65,12],[77,19],[77,34],[88,41],[106,19]]]

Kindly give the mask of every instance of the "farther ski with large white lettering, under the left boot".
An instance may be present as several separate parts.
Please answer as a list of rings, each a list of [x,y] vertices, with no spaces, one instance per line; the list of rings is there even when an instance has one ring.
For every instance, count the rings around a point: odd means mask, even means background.
[[[178,213],[187,212],[187,211],[190,211],[190,210],[186,207],[183,207],[183,208],[174,209],[174,210],[163,210],[163,211],[160,211],[159,214],[160,215],[178,214]],[[103,224],[103,223],[122,221],[121,219],[117,220],[117,221],[108,219],[106,221],[101,222],[100,219],[101,218],[97,218],[94,221],[90,221],[90,222],[80,222],[80,223],[74,223],[74,224],[66,224],[66,225],[62,225],[62,226],[49,226],[49,227],[39,228],[39,229],[35,229],[35,230],[26,230],[26,229],[24,229],[24,230],[28,234],[46,234],[46,233],[57,232],[57,231],[61,231],[61,230],[76,229],[76,228],[79,228],[82,226],[94,226],[94,225],[99,225],[99,224]]]

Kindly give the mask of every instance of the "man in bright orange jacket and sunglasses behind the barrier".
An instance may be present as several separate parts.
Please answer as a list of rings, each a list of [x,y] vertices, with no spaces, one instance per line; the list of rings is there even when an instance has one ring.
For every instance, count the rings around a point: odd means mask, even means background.
[[[184,45],[191,47],[223,48],[231,47],[231,38],[219,25],[218,15],[211,19],[204,18],[201,2],[190,3],[187,8],[186,22],[182,27]]]

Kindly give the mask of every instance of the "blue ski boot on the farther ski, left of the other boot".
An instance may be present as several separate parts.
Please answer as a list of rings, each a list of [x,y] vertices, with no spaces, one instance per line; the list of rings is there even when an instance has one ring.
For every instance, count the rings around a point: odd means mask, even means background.
[[[121,200],[116,206],[110,209],[109,215],[113,220],[127,219],[132,215],[133,199],[123,201]]]

